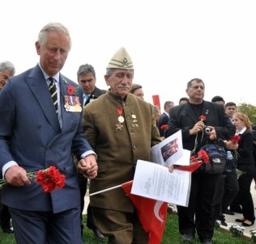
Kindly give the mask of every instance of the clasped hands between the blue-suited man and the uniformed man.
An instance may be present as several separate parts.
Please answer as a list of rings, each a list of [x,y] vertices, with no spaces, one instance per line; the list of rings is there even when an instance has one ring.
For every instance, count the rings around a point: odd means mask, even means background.
[[[96,156],[94,154],[90,154],[87,157],[81,159],[77,165],[77,168],[83,177],[87,179],[96,178],[98,171]]]

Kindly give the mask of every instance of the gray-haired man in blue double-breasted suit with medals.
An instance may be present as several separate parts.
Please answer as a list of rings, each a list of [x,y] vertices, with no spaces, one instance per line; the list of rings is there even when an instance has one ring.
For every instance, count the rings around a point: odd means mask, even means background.
[[[97,175],[96,154],[83,136],[82,87],[60,74],[70,51],[70,34],[49,23],[36,41],[39,64],[9,79],[0,95],[0,177],[2,203],[11,212],[19,243],[82,243],[80,195],[72,155],[88,179]],[[56,86],[54,101],[49,92]],[[56,166],[65,186],[44,193],[28,172]]]

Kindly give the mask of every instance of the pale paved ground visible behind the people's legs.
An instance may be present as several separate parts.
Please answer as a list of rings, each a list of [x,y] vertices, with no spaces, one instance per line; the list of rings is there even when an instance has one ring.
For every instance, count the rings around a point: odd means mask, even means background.
[[[254,189],[254,181],[253,181],[253,183],[251,185],[251,193],[252,193],[253,200],[254,200],[254,207],[256,208],[256,190]],[[87,191],[87,194],[86,194],[86,196],[84,198],[84,206],[85,206],[85,208],[83,209],[83,214],[87,213],[87,204],[89,204],[89,193],[88,193],[88,191]],[[255,211],[255,216],[256,216],[256,210],[254,210],[254,211]],[[226,222],[227,222],[228,225],[230,225],[230,224],[241,225],[241,223],[237,223],[235,221],[235,219],[241,218],[243,216],[242,216],[241,213],[236,213],[235,212],[235,215],[225,214],[225,217],[226,217]],[[224,226],[221,226],[221,227],[223,229],[228,230],[227,227],[224,227]],[[256,229],[256,221],[255,221],[254,225],[252,225],[250,227],[245,227],[245,230],[244,230],[245,236],[250,237],[250,230],[251,229]]]

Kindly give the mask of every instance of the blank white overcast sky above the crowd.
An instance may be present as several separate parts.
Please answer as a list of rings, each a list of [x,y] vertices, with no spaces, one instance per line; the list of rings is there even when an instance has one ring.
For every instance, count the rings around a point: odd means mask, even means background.
[[[192,78],[205,82],[205,100],[256,106],[256,3],[254,0],[8,0],[0,5],[0,61],[16,74],[39,61],[35,42],[49,22],[63,23],[72,48],[62,74],[77,81],[79,65],[96,70],[96,86],[105,85],[105,69],[125,47],[134,64],[134,82],[176,105]]]

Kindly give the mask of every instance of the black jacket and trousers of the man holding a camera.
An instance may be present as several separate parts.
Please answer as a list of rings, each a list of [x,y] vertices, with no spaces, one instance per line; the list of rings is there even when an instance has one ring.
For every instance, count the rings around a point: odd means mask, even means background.
[[[202,116],[206,116],[205,124],[215,127],[218,138],[230,138],[235,133],[224,107],[216,103],[203,101]],[[193,150],[196,135],[190,135],[190,129],[199,121],[200,114],[194,111],[190,103],[173,107],[170,111],[169,128],[165,137],[169,137],[181,129],[184,149]],[[208,141],[204,133],[198,133],[198,149]],[[209,175],[202,172],[192,174],[189,206],[178,206],[179,231],[181,234],[194,235],[195,229],[200,239],[211,239],[215,220],[220,214],[220,202],[224,188],[224,175]],[[194,221],[195,215],[195,221]]]

